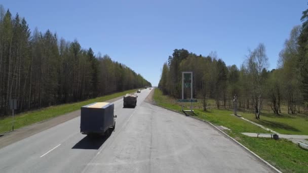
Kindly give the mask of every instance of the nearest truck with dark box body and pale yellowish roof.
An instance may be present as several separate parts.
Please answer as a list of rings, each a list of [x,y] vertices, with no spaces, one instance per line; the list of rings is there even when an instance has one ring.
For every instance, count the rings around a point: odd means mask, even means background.
[[[95,102],[81,107],[80,132],[85,135],[108,135],[115,128],[114,104]]]

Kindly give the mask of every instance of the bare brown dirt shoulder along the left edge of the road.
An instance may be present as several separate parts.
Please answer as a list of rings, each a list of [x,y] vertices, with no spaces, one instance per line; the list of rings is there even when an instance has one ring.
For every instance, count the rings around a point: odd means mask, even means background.
[[[105,102],[114,102],[122,98],[123,96],[120,96]],[[14,132],[0,136],[0,149],[78,116],[80,116],[80,110],[18,128]]]

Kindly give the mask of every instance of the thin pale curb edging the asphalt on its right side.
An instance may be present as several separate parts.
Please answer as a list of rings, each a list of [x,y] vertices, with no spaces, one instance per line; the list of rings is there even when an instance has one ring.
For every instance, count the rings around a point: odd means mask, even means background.
[[[181,112],[177,112],[175,110],[172,110],[172,109],[169,109],[169,108],[165,108],[163,106],[160,106],[160,105],[157,105],[157,104],[153,104],[152,105],[155,105],[155,106],[158,106],[158,107],[161,107],[161,108],[164,108],[164,109],[168,109],[170,111],[173,111],[173,112],[176,112],[176,113],[179,113],[179,114],[182,114],[182,115],[185,115],[184,113],[181,113]],[[185,115],[186,116],[186,115]],[[189,116],[189,115],[188,115]],[[265,165],[267,165],[268,167],[270,167],[271,169],[273,169],[274,171],[278,172],[278,173],[282,173],[282,171],[280,171],[279,169],[277,169],[275,166],[273,166],[272,164],[268,163],[267,161],[265,161],[264,159],[262,159],[260,156],[258,156],[256,153],[254,153],[253,151],[251,151],[250,149],[248,149],[247,147],[245,147],[243,144],[241,144],[240,142],[238,142],[237,140],[235,140],[234,138],[230,137],[229,135],[227,135],[226,133],[224,133],[223,131],[221,131],[221,129],[219,129],[218,127],[216,127],[214,124],[212,124],[211,122],[209,121],[206,121],[206,120],[203,120],[203,119],[200,119],[200,118],[197,118],[197,117],[194,117],[194,116],[189,116],[191,118],[195,118],[195,119],[198,119],[200,121],[203,121],[203,122],[206,122],[208,124],[210,124],[212,127],[214,127],[214,129],[216,129],[218,132],[222,133],[223,135],[225,135],[226,137],[228,137],[230,140],[232,140],[233,142],[235,142],[236,144],[238,144],[239,146],[241,146],[242,148],[244,148],[248,153],[252,154],[253,156],[255,156],[257,159],[259,159],[259,161],[263,162]]]

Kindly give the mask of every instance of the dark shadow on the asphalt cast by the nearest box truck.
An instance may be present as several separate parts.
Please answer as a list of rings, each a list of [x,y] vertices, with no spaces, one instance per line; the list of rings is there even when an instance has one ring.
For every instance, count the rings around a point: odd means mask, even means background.
[[[98,150],[101,145],[109,138],[108,136],[90,137],[89,135],[76,143],[71,149]]]

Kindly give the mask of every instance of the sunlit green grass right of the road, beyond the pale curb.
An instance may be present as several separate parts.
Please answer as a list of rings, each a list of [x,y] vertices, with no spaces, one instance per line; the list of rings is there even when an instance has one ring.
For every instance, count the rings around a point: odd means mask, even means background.
[[[176,111],[181,110],[181,106],[173,103],[172,99],[167,96],[163,96],[162,92],[158,89],[155,90],[153,95],[153,100],[160,106],[167,107],[169,109],[173,109]],[[197,117],[210,121],[215,125],[223,125],[231,129],[231,131],[225,131],[228,135],[235,138],[237,141],[245,145],[247,148],[255,152],[261,158],[265,159],[267,162],[271,163],[278,169],[283,172],[308,172],[308,152],[300,149],[296,144],[292,142],[280,139],[280,140],[272,140],[268,138],[252,138],[242,135],[242,132],[251,132],[251,133],[264,133],[266,132],[264,129],[253,125],[245,120],[242,120],[236,116],[230,116],[232,111],[228,110],[217,110],[213,109],[211,111],[203,111],[202,109],[195,109]],[[253,117],[253,114],[245,114],[244,117],[248,118],[249,116]],[[302,119],[297,120],[296,118],[287,118],[282,117],[282,119],[276,117],[271,117],[270,115],[263,116],[264,120],[266,118],[272,118],[273,122],[281,122],[286,123],[285,119],[291,120],[291,123],[288,123],[289,126],[293,126],[294,124],[298,124],[299,121],[303,121]],[[263,117],[261,117],[263,119]],[[250,118],[248,118],[250,119]],[[251,119],[253,120],[253,119]],[[297,122],[298,121],[298,122]],[[306,127],[308,126],[307,122]],[[259,122],[258,122],[259,123]],[[265,124],[264,124],[265,125]],[[265,125],[267,126],[267,125]],[[271,127],[270,125],[268,127]],[[295,127],[294,127],[295,128]],[[302,126],[296,127],[299,129],[300,133],[306,134],[306,130],[303,129]],[[294,132],[292,129],[285,129],[282,127],[277,127],[275,129],[280,132]],[[297,132],[299,133],[299,132]]]

